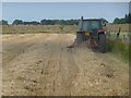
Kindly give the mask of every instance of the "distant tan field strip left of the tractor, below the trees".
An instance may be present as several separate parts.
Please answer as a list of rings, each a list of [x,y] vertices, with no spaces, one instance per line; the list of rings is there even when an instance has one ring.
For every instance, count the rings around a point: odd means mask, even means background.
[[[76,29],[76,25],[4,25],[2,34],[75,33]]]

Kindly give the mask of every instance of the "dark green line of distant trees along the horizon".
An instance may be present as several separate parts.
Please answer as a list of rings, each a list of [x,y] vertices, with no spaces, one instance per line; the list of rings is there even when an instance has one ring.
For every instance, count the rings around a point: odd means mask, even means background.
[[[126,14],[124,17],[119,19],[116,17],[112,22],[112,24],[131,24],[131,13]],[[0,21],[0,24],[2,25],[9,25],[8,21],[2,20]],[[14,20],[12,25],[78,25],[79,20],[41,20],[40,22],[37,21],[31,21],[31,22],[25,22],[22,20]]]

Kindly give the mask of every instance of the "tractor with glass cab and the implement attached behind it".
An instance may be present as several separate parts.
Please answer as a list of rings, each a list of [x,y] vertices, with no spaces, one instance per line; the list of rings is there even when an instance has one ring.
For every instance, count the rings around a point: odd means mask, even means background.
[[[86,42],[88,48],[98,49],[104,53],[106,51],[106,30],[104,29],[106,23],[107,21],[104,19],[83,20],[82,16],[76,32],[76,39],[69,48]]]

